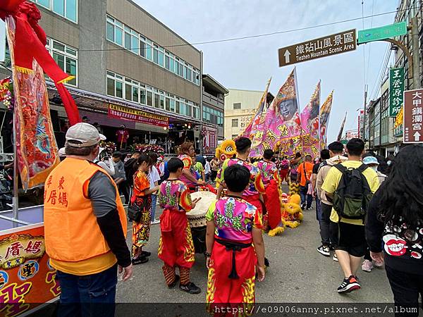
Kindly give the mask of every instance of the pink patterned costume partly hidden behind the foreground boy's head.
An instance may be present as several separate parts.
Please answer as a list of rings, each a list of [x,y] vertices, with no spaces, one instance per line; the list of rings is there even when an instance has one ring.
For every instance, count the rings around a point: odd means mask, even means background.
[[[263,208],[262,208],[262,202],[259,200],[259,194],[264,194],[264,184],[262,181],[262,174],[260,173],[257,166],[253,165],[249,161],[243,161],[241,159],[228,159],[223,162],[222,168],[217,173],[217,179],[220,180],[220,182],[224,181],[224,173],[226,168],[229,166],[232,166],[234,164],[239,164],[242,166],[245,166],[250,170],[251,177],[250,177],[250,185],[248,189],[245,189],[243,193],[243,199],[245,199],[247,202],[255,206],[259,214],[262,216],[263,214]]]

